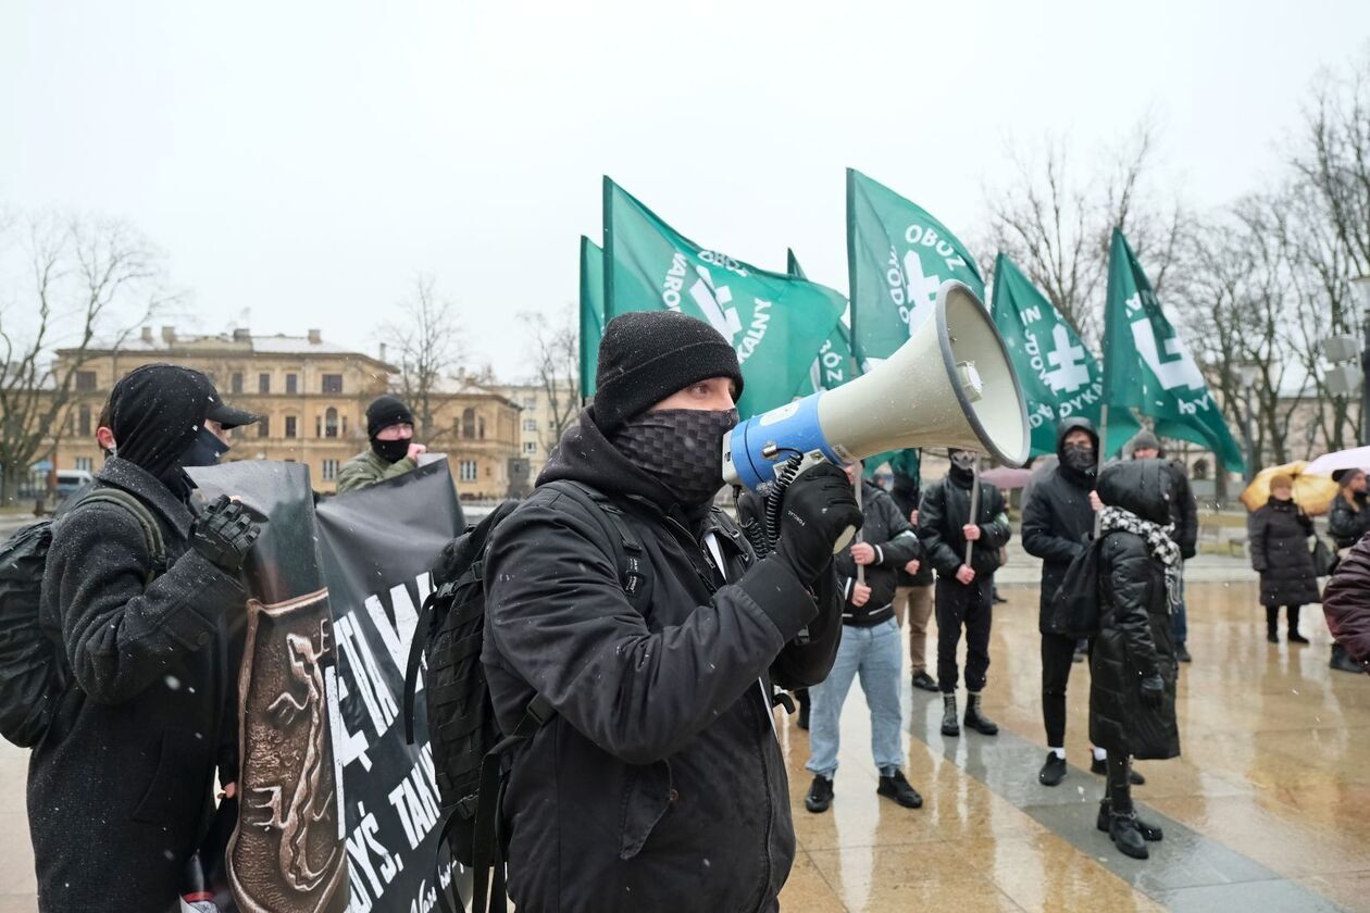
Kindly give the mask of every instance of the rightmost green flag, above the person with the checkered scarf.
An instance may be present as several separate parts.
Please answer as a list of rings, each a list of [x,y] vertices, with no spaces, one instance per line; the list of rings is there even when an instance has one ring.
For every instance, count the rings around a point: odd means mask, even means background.
[[[1121,442],[1112,430],[1114,415],[1134,408],[1155,419],[1156,434],[1192,441],[1218,454],[1228,470],[1245,471],[1247,461],[1208,382],[1118,229],[1108,246],[1103,398],[1110,408],[1110,443]]]

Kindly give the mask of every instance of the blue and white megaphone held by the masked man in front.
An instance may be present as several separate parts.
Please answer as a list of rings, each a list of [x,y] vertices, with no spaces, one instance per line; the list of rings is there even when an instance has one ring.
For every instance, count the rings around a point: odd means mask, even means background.
[[[880,367],[733,428],[723,438],[723,480],[756,491],[823,460],[849,465],[926,446],[977,450],[1012,467],[1028,460],[1028,405],[1008,349],[960,282],[943,283],[934,313]]]

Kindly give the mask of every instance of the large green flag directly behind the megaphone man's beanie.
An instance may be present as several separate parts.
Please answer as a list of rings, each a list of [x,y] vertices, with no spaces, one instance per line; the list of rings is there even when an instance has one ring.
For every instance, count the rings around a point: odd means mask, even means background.
[[[700,248],[604,178],[606,318],[669,309],[737,349],[743,417],[795,398],[845,308],[843,296]]]

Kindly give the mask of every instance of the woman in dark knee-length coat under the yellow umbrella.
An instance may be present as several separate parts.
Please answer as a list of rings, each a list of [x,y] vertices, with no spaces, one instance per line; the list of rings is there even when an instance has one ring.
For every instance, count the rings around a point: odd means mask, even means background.
[[[1280,606],[1285,606],[1289,643],[1307,643],[1299,634],[1299,609],[1321,602],[1308,537],[1312,520],[1293,502],[1293,479],[1270,479],[1270,500],[1247,520],[1251,567],[1260,574],[1260,605],[1266,606],[1266,639],[1278,643]]]

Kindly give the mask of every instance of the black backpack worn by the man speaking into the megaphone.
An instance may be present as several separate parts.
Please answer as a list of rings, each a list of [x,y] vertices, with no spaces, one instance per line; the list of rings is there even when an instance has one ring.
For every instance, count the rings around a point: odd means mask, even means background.
[[[541,486],[578,502],[599,517],[606,541],[619,568],[619,582],[629,601],[643,612],[651,600],[652,582],[643,545],[623,522],[622,511],[603,494],[577,482]],[[533,738],[555,710],[534,695],[523,719],[507,736],[495,719],[481,665],[485,641],[485,553],[495,528],[518,508],[506,501],[489,516],[452,541],[433,569],[434,591],[423,601],[410,646],[404,676],[404,735],[414,743],[414,693],[421,663],[427,665],[429,743],[441,802],[441,842],[452,858],[474,875],[471,912],[504,910],[504,835],[499,830],[500,799],[510,750]],[[441,843],[438,858],[441,865]],[[488,873],[495,869],[493,886]],[[445,891],[438,892],[451,910]],[[488,903],[489,902],[489,903]]]

